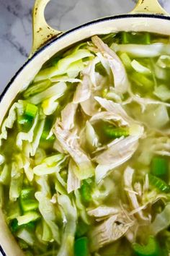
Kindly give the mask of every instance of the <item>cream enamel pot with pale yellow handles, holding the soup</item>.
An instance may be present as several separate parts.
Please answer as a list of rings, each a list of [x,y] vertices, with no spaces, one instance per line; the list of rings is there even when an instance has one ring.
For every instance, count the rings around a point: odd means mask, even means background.
[[[170,35],[169,14],[161,8],[157,0],[139,0],[129,14],[104,17],[73,28],[65,33],[53,30],[45,22],[44,10],[50,0],[36,0],[33,9],[32,52],[27,62],[19,69],[6,86],[0,99],[0,125],[12,101],[19,91],[30,84],[45,61],[58,51],[67,48],[92,35],[101,35],[118,31],[146,31]],[[15,242],[4,221],[0,210],[0,244],[3,255],[22,256],[24,253]]]

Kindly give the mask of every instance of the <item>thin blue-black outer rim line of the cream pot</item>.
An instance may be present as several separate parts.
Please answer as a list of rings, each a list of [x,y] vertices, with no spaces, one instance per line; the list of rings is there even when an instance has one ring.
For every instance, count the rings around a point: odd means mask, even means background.
[[[138,14],[138,13],[137,14],[119,14],[119,15],[114,15],[114,16],[102,17],[102,18],[99,18],[97,20],[91,20],[91,21],[86,22],[82,25],[79,25],[78,27],[73,27],[71,30],[63,32],[60,35],[57,35],[55,38],[53,38],[48,43],[46,43],[45,46],[42,46],[41,48],[39,48],[35,52],[35,54],[33,54],[29,59],[27,59],[27,61],[22,65],[22,67],[20,67],[18,69],[18,71],[14,74],[12,79],[9,81],[9,83],[5,86],[4,90],[2,91],[2,93],[0,95],[0,103],[1,103],[1,100],[4,98],[6,92],[8,91],[8,89],[10,88],[10,86],[12,85],[12,83],[14,82],[16,77],[18,76],[18,74],[20,74],[22,72],[22,69],[24,69],[24,67],[26,67],[27,64],[29,64],[32,61],[32,59],[35,59],[38,56],[38,54],[40,54],[40,52],[44,51],[45,48],[52,45],[57,40],[60,40],[61,38],[64,38],[66,35],[69,35],[69,34],[75,32],[75,31],[81,30],[81,28],[83,28],[83,27],[89,27],[90,25],[94,25],[94,24],[104,22],[104,21],[120,20],[120,19],[125,19],[125,18],[128,19],[128,18],[133,18],[133,17],[134,18],[141,17],[141,18],[151,18],[151,19],[160,19],[160,20],[170,20],[170,16],[164,16],[164,15],[161,15],[161,14]]]

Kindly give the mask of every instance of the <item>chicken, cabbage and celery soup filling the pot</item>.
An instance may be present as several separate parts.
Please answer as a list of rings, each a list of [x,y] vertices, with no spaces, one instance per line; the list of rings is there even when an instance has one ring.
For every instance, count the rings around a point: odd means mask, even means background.
[[[1,126],[0,205],[25,255],[170,255],[170,43],[53,56]]]

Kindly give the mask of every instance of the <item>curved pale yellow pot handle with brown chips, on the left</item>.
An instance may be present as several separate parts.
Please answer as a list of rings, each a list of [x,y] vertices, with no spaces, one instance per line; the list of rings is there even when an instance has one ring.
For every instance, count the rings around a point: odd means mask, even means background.
[[[62,32],[54,30],[45,21],[45,7],[50,0],[35,0],[35,6],[32,12],[32,29],[33,29],[33,40],[32,40],[32,54],[44,46],[48,41]]]

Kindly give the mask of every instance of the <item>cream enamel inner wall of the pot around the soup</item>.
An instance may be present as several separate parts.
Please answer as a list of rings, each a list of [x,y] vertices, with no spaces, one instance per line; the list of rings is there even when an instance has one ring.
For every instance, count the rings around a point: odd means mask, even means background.
[[[45,61],[48,61],[54,54],[63,48],[71,46],[73,43],[89,38],[92,35],[106,34],[118,31],[147,31],[152,33],[161,33],[170,35],[170,20],[156,17],[122,17],[110,20],[102,20],[91,25],[86,25],[71,33],[67,33],[63,37],[50,43],[36,56],[34,56],[21,72],[15,77],[6,94],[0,103],[0,125],[4,119],[6,111],[11,105],[14,98],[20,90],[26,88],[30,81],[35,77]],[[6,255],[19,256],[23,255],[16,242],[14,242],[12,234],[9,232],[4,223],[2,213],[0,211],[0,244],[4,248]]]

